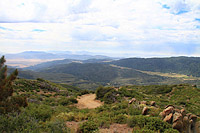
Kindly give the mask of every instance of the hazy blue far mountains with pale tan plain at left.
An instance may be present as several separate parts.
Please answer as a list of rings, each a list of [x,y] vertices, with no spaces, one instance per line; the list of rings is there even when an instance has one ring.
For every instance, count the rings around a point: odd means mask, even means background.
[[[36,64],[40,64],[43,62],[61,60],[61,59],[71,60],[71,62],[72,60],[82,61],[89,59],[113,59],[111,57],[104,55],[95,55],[94,53],[90,53],[87,51],[80,51],[80,52],[52,51],[52,53],[42,52],[42,51],[25,51],[17,54],[5,54],[5,57],[7,59],[6,62],[7,65],[17,68],[34,66]]]

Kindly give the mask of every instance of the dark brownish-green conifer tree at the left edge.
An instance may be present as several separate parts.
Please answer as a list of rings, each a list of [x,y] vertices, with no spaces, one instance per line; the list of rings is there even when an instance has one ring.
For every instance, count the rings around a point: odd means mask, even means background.
[[[12,111],[19,111],[20,107],[26,107],[27,101],[25,97],[12,96],[12,83],[17,78],[17,69],[7,76],[7,66],[4,56],[0,58],[0,114]]]

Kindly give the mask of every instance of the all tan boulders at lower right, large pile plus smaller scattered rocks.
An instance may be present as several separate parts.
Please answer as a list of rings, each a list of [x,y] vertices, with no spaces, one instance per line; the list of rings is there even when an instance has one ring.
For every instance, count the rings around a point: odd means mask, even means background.
[[[153,108],[156,107],[155,101],[151,101],[148,104],[149,106],[146,106],[146,101],[137,101],[135,98],[132,98],[129,101],[129,104],[132,104],[133,102],[145,105],[142,110],[142,115],[148,115],[151,106],[153,106]],[[185,109],[179,110],[173,105],[168,105],[162,112],[160,112],[160,116],[163,121],[168,122],[174,129],[177,129],[181,133],[200,133],[197,116],[191,113],[186,113]]]

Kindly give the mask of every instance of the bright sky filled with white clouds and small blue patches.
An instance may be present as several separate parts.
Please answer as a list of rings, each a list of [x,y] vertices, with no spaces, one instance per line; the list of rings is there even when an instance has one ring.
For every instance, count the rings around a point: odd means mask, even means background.
[[[1,0],[0,53],[200,56],[200,0]]]

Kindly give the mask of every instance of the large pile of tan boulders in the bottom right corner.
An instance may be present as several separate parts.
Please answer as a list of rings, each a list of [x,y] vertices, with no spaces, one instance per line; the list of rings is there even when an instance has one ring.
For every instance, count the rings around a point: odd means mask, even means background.
[[[174,129],[182,133],[198,133],[196,127],[197,116],[191,113],[186,114],[184,109],[176,109],[173,105],[168,105],[160,113],[163,121],[172,124]]]

